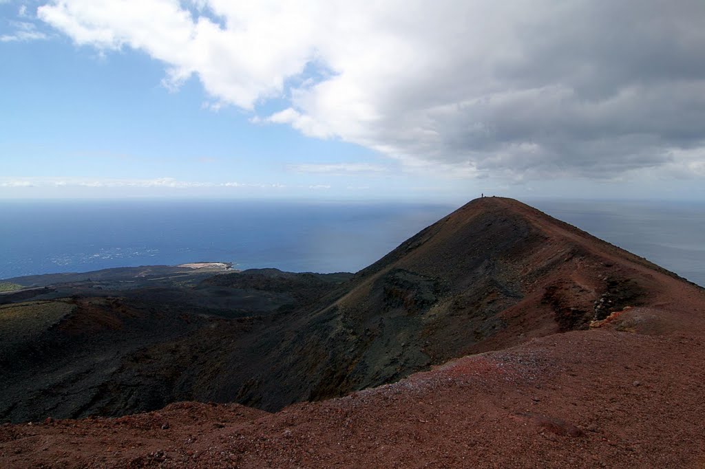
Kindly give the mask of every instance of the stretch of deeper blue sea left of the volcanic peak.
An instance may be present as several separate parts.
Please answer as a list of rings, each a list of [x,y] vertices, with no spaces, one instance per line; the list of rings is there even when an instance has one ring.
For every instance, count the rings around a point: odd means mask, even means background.
[[[0,278],[135,265],[357,271],[451,206],[245,201],[5,201]]]

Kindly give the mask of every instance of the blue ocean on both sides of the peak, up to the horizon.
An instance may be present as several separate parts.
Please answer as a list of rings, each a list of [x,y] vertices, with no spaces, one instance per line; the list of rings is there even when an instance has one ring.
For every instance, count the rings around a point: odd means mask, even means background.
[[[528,201],[705,285],[705,204]],[[453,211],[439,204],[0,201],[0,279],[135,265],[355,272]]]

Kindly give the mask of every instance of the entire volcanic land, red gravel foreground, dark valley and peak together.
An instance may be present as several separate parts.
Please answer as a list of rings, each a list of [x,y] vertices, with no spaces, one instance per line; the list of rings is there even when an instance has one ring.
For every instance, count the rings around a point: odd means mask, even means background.
[[[142,287],[6,297],[0,418],[46,420],[0,425],[0,465],[313,467],[362,454],[466,467],[487,448],[516,465],[523,448],[538,455],[527,465],[622,451],[625,467],[690,467],[701,456],[690,442],[704,437],[703,289],[520,201],[470,201],[350,280],[266,269],[190,287],[202,274],[160,272]],[[275,414],[212,404],[278,411],[345,394]],[[209,404],[162,408],[185,400]],[[664,425],[677,431],[654,436]]]

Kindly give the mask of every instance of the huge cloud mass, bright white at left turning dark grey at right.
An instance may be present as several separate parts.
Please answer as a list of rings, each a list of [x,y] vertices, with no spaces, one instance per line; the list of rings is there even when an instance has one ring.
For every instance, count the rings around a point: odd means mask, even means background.
[[[55,0],[37,15],[149,54],[172,89],[197,76],[216,108],[406,168],[705,176],[701,0]],[[288,104],[261,115],[272,98]]]

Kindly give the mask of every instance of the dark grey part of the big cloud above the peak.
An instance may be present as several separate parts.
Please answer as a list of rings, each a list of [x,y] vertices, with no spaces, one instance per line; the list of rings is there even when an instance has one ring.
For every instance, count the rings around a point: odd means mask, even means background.
[[[496,54],[486,92],[430,111],[439,146],[400,146],[491,172],[591,177],[701,148],[705,2],[615,3],[564,6],[517,25],[519,50]]]

